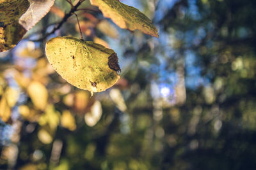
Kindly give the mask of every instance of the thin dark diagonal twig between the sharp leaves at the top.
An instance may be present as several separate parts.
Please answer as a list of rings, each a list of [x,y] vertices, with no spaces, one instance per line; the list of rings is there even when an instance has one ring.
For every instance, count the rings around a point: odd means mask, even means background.
[[[83,1],[82,1],[83,2]],[[71,7],[71,10],[65,14],[65,16],[63,17],[63,19],[61,20],[61,22],[59,22],[57,25],[55,25],[54,29],[52,29],[51,32],[48,32],[47,34],[45,34],[42,38],[39,39],[35,39],[35,40],[31,40],[31,41],[42,41],[45,38],[47,38],[47,36],[51,35],[52,33],[54,33],[56,30],[60,29],[60,27],[68,20],[69,17],[72,16],[72,14],[77,11],[78,6],[81,4],[81,1],[79,1],[75,6]]]

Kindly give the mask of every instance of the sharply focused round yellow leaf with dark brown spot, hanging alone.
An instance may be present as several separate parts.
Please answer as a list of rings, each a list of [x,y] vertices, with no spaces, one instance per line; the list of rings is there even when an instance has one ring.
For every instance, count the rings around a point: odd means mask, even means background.
[[[46,43],[45,53],[62,78],[79,89],[101,92],[120,78],[116,53],[97,43],[71,36],[57,37]]]

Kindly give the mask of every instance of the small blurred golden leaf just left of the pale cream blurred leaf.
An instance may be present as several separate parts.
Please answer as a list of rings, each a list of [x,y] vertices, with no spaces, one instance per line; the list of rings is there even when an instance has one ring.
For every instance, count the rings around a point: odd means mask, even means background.
[[[76,120],[68,110],[64,110],[61,116],[61,125],[70,131],[76,130]]]

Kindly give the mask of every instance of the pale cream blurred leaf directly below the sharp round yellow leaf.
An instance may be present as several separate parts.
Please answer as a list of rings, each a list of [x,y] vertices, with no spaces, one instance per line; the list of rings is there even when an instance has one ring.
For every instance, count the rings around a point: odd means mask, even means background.
[[[92,127],[95,124],[97,124],[97,122],[99,122],[101,115],[102,115],[101,104],[99,101],[95,101],[95,103],[91,108],[91,111],[84,115],[84,121],[88,126]]]

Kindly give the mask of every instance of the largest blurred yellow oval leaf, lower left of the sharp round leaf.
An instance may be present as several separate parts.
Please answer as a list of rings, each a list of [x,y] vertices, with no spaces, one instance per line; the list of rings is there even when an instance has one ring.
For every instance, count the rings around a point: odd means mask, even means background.
[[[47,105],[48,92],[42,83],[38,81],[32,81],[29,83],[28,95],[36,108],[45,110]]]

